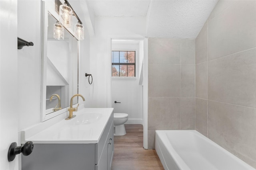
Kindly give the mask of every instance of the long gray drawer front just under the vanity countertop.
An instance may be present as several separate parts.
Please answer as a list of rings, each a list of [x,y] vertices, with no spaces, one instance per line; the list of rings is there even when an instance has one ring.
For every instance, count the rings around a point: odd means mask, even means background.
[[[104,129],[102,136],[100,137],[100,141],[99,143],[95,144],[95,164],[98,164],[100,157],[102,155],[102,152],[104,150],[104,145],[106,143],[106,140],[108,140],[108,133],[110,131],[110,129],[112,129],[111,127],[113,127],[114,125],[114,113],[112,112],[109,121],[106,125],[106,128]]]

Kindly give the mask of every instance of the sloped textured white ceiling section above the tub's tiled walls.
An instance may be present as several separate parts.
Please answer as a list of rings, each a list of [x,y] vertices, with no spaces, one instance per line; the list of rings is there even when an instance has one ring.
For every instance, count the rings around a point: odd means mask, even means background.
[[[148,37],[196,38],[217,0],[154,0]]]

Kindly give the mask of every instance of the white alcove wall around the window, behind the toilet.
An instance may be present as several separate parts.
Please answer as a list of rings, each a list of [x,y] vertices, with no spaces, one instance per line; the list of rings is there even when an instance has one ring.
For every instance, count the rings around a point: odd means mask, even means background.
[[[112,42],[112,50],[136,51],[136,78],[112,78],[112,107],[115,113],[127,113],[129,115],[126,124],[142,124],[142,86],[139,85],[139,61],[143,48],[136,44],[116,44]],[[114,101],[121,103],[114,103]]]

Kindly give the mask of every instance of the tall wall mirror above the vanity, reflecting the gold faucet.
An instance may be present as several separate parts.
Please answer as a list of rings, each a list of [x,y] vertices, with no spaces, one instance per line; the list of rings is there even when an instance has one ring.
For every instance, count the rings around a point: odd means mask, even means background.
[[[54,39],[53,27],[57,20],[48,11],[44,16],[42,121],[66,112],[70,106],[70,98],[78,94],[78,41],[65,28],[64,40]],[[57,95],[52,96],[53,94]],[[78,98],[74,98],[73,104],[77,103]],[[55,114],[51,115],[53,113]]]

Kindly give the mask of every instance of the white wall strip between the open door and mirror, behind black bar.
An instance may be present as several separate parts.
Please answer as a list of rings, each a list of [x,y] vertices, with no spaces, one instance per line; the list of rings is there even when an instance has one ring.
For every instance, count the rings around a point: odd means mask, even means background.
[[[18,0],[18,37],[34,43],[34,46],[18,50],[19,130],[40,123],[42,36],[40,18],[41,1]]]

